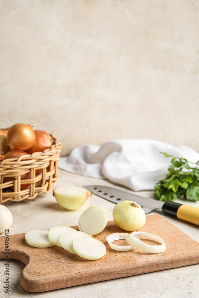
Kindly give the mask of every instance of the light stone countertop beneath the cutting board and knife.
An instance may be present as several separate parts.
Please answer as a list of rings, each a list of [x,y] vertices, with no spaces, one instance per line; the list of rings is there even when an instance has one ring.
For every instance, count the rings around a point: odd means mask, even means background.
[[[106,179],[94,179],[59,170],[59,178],[53,188],[62,186],[83,186],[87,184],[101,184],[115,186]],[[121,186],[115,186],[125,189]],[[139,192],[140,195],[153,196],[152,191]],[[180,202],[180,201],[179,201]],[[199,202],[191,203],[199,207]],[[76,211],[67,211],[56,203],[52,193],[38,195],[34,200],[21,203],[7,202],[4,204],[13,214],[13,225],[10,235],[24,233],[33,229],[50,229],[53,226],[74,226],[78,223],[81,213],[91,205],[100,205],[108,213],[108,220],[112,220],[112,210],[115,204],[98,196],[92,195],[87,202]],[[157,212],[151,212],[155,214]],[[175,218],[161,216],[173,225],[177,226],[187,235],[199,242],[199,227],[185,223]],[[2,235],[2,234],[1,234]],[[198,298],[199,293],[199,264],[181,268],[168,269],[152,273],[146,273],[115,280],[107,280],[87,285],[79,285],[71,288],[63,288],[43,293],[30,293],[25,291],[19,282],[21,270],[24,264],[9,261],[10,264],[10,288],[9,294],[3,291],[4,261],[0,261],[1,288],[0,297],[12,298],[84,298],[84,297],[134,297],[134,298]]]

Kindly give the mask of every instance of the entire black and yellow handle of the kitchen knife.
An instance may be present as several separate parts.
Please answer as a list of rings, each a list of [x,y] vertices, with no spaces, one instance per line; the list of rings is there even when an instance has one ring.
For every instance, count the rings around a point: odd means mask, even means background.
[[[163,204],[162,211],[199,226],[199,208],[197,207],[167,201]]]

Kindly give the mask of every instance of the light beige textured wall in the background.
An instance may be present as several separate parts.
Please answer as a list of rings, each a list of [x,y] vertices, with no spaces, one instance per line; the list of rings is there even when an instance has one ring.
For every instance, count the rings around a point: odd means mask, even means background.
[[[192,0],[2,1],[1,127],[43,128],[62,154],[138,137],[199,150],[198,12]]]

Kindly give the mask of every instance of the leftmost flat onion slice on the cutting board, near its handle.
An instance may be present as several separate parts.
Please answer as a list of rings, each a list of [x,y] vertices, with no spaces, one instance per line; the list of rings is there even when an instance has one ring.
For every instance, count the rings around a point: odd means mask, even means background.
[[[25,235],[26,242],[30,246],[45,248],[55,246],[48,238],[49,230],[33,230]]]

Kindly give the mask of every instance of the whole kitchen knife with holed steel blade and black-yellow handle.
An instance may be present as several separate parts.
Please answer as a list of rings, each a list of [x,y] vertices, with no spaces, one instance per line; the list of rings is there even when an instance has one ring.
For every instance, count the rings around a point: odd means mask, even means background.
[[[115,204],[125,200],[134,201],[144,209],[146,214],[155,209],[162,209],[162,212],[166,214],[173,215],[184,221],[199,225],[199,208],[197,207],[179,204],[172,201],[167,201],[164,203],[114,187],[101,185],[86,185],[84,187],[87,190],[90,190],[91,193],[94,193],[95,195],[98,195],[99,197]]]

